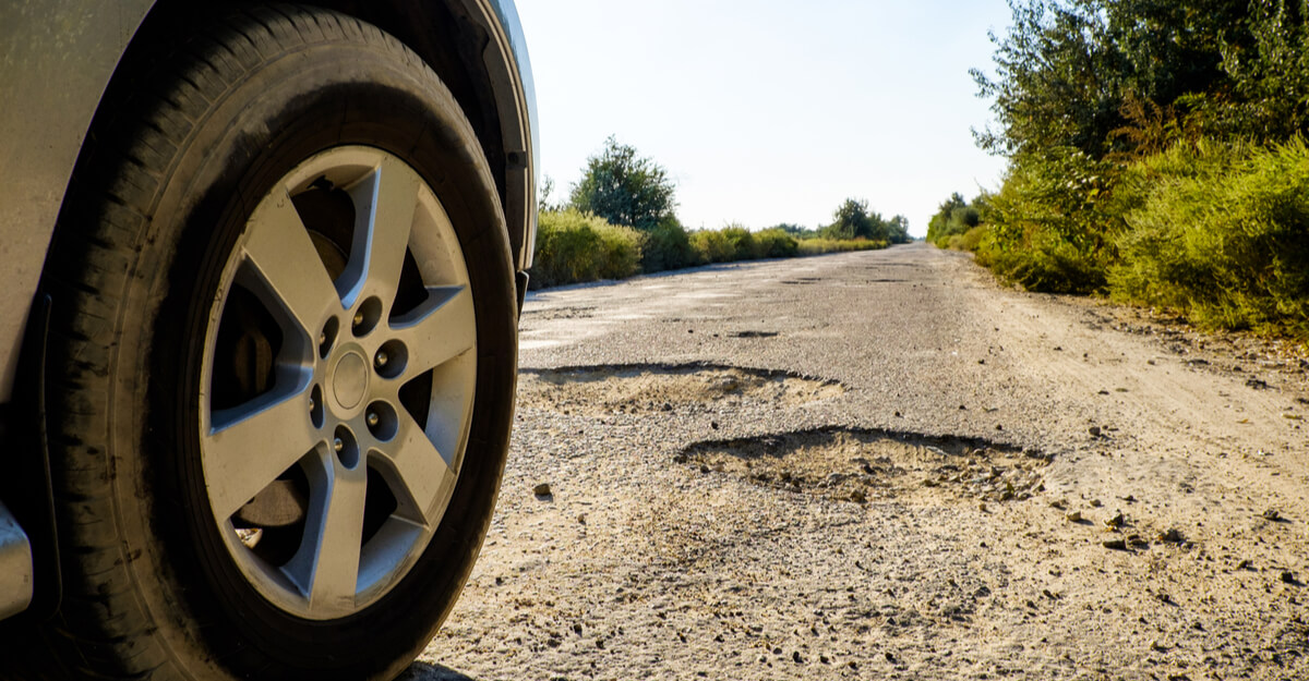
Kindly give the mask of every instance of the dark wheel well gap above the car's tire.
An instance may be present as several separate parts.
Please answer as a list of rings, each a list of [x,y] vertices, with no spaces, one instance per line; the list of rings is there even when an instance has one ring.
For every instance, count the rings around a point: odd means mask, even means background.
[[[140,29],[132,37],[102,99],[101,110],[111,102],[115,84],[131,81],[136,68],[152,59],[161,44],[168,44],[178,29],[192,25],[202,13],[215,8],[274,4],[251,0],[157,0]],[[500,200],[507,204],[508,157],[500,132],[500,115],[493,98],[492,78],[482,55],[491,38],[469,17],[459,3],[450,0],[308,0],[301,5],[321,7],[367,21],[394,35],[427,63],[450,89],[463,108],[463,115],[482,142],[482,153],[495,175]],[[97,119],[99,112],[97,112]],[[509,230],[511,241],[517,241]],[[517,243],[514,243],[517,246]]]

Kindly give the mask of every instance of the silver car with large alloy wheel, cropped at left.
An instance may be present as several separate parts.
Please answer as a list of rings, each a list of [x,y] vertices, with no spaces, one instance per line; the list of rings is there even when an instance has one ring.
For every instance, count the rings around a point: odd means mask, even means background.
[[[512,0],[14,0],[0,41],[0,674],[393,678],[509,447]]]

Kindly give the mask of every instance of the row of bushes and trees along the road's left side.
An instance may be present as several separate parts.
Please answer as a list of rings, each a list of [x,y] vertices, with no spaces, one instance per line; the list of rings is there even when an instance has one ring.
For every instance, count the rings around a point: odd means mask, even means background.
[[[751,231],[732,224],[687,231],[674,212],[668,171],[614,137],[586,161],[565,204],[552,204],[552,191],[547,179],[539,199],[533,288],[712,263],[885,248],[910,241],[903,216],[885,220],[857,199],[846,200],[831,225],[812,230],[778,225]]]

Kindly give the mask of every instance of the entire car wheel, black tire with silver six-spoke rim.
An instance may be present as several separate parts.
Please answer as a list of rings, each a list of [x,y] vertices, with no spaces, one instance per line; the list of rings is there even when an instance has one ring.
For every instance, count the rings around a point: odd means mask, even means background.
[[[209,17],[153,64],[97,119],[43,274],[42,643],[68,677],[391,678],[508,450],[483,148],[414,52],[334,12]]]

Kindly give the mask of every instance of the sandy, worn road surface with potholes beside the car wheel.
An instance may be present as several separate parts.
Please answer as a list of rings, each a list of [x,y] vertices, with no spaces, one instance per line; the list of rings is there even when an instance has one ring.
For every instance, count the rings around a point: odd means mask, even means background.
[[[521,365],[406,680],[1309,678],[1293,348],[912,246],[542,291]]]

